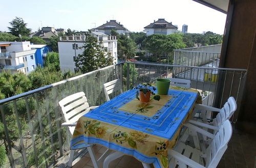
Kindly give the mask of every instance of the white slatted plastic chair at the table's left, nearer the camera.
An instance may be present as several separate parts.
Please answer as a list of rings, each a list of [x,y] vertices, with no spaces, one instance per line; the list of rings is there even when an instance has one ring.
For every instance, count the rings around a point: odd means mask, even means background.
[[[61,107],[63,120],[65,123],[62,123],[61,126],[68,128],[68,131],[73,134],[77,120],[87,114],[91,109],[94,109],[98,106],[90,107],[87,98],[83,92],[75,93],[59,101]],[[95,159],[95,155],[92,149],[92,146],[87,147],[90,157],[92,159],[94,167],[98,167],[98,163]],[[76,150],[71,150],[68,166],[72,166],[73,157]]]

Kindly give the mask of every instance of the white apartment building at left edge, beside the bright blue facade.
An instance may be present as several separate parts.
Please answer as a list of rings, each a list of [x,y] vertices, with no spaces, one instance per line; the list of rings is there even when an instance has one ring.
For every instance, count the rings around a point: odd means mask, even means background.
[[[0,71],[30,73],[36,68],[35,52],[29,41],[0,42]]]

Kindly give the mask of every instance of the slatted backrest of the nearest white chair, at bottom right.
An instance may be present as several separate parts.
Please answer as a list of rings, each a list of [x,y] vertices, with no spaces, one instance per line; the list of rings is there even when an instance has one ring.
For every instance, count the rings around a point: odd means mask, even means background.
[[[229,120],[226,120],[220,127],[219,132],[206,149],[205,167],[217,167],[223,154],[227,149],[227,144],[232,135],[232,126]]]

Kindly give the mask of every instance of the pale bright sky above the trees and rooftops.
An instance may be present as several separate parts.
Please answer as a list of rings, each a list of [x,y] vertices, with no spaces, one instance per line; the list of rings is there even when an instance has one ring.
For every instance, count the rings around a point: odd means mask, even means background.
[[[16,16],[32,32],[42,26],[87,31],[112,19],[131,32],[142,32],[146,25],[164,18],[180,31],[187,24],[188,33],[223,34],[226,21],[226,14],[192,0],[12,0],[1,2],[0,11],[2,32],[9,32],[9,22]]]

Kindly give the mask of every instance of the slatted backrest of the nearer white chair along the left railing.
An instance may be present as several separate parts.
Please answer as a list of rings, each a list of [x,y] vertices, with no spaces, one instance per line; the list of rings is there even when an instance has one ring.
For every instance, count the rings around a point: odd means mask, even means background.
[[[83,92],[75,93],[59,101],[62,117],[65,122],[75,123],[77,120],[90,111],[87,98]],[[69,127],[72,129],[72,127]],[[73,131],[70,130],[71,133]]]

